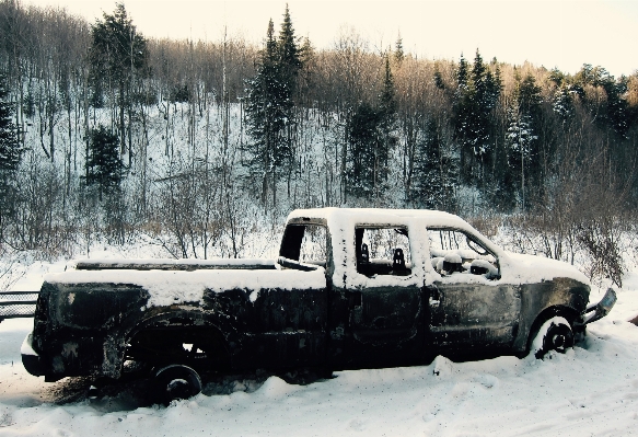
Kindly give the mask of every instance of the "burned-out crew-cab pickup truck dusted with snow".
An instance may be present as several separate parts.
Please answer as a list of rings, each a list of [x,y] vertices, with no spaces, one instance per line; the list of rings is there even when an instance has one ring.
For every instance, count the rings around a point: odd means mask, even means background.
[[[78,261],[45,278],[24,367],[46,381],[120,378],[143,364],[166,392],[201,372],[355,369],[438,354],[565,350],[604,317],[575,267],[503,251],[440,211],[306,209],[279,257]]]

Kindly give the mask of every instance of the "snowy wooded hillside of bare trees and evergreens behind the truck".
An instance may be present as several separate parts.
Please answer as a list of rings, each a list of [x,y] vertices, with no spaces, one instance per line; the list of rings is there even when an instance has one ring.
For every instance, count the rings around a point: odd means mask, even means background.
[[[264,28],[155,39],[123,4],[0,1],[0,279],[96,244],[272,256],[290,210],[348,206],[459,214],[620,285],[638,72],[419,59],[351,28],[318,50],[288,8]]]

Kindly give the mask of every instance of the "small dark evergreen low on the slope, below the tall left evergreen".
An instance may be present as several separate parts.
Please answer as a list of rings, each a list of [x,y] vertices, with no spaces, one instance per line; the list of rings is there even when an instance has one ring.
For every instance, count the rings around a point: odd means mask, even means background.
[[[86,185],[97,188],[100,202],[104,194],[120,189],[124,165],[118,156],[118,138],[103,125],[91,130],[86,158]]]

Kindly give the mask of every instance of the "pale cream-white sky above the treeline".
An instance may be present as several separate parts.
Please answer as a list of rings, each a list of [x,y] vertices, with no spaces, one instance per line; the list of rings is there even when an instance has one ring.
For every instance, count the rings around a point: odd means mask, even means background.
[[[112,13],[114,0],[23,0],[63,7],[93,22]],[[281,23],[286,1],[126,0],[144,36],[219,41],[228,34],[259,43],[268,20]],[[406,51],[457,60],[461,53],[510,64],[525,60],[576,72],[582,64],[612,74],[638,69],[638,0],[289,0],[297,35],[317,48],[332,47],[344,27],[353,27],[371,48],[385,48],[401,32]]]

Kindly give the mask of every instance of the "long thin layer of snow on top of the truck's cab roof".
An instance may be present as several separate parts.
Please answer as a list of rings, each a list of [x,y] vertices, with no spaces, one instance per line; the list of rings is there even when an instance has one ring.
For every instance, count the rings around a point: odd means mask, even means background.
[[[432,209],[385,209],[385,208],[313,208],[295,209],[288,216],[291,219],[311,218],[324,219],[328,222],[343,222],[343,220],[360,221],[362,223],[387,223],[393,219],[416,218],[430,227],[450,227],[465,230],[476,230],[459,216],[450,212]]]

